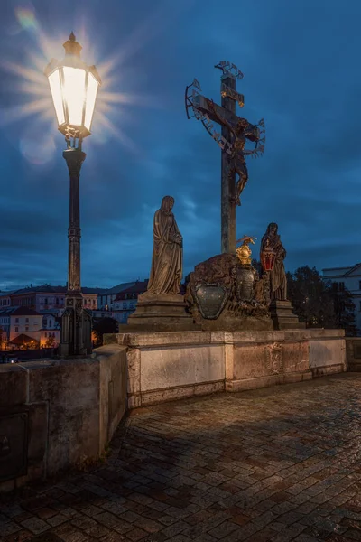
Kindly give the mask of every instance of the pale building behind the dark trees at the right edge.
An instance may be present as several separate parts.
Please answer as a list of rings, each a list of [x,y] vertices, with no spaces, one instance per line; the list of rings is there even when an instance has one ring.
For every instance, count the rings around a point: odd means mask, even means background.
[[[347,290],[352,294],[356,305],[355,321],[358,330],[361,330],[361,264],[349,267],[330,267],[322,269],[324,280],[337,285],[338,290]]]

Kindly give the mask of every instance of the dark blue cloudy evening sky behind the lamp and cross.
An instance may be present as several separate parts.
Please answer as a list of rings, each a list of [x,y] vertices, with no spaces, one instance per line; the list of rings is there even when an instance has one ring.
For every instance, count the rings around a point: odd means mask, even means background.
[[[175,198],[185,274],[220,248],[220,150],[187,120],[196,77],[219,101],[218,61],[245,74],[249,160],[237,237],[279,224],[286,267],[353,265],[361,209],[361,2],[2,0],[0,286],[65,284],[69,179],[42,70],[71,30],[105,84],[81,174],[82,284],[149,276],[153,213]]]

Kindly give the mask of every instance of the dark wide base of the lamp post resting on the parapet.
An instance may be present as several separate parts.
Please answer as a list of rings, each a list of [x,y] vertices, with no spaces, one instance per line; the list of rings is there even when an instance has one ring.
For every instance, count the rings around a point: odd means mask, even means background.
[[[61,316],[59,355],[88,356],[91,354],[91,314],[83,309],[81,294],[67,295],[66,309]]]

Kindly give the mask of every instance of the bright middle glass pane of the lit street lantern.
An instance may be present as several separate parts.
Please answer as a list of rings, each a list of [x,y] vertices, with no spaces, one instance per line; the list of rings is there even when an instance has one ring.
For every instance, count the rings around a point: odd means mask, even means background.
[[[81,68],[63,67],[64,100],[68,107],[69,124],[82,126],[85,99],[85,70]]]

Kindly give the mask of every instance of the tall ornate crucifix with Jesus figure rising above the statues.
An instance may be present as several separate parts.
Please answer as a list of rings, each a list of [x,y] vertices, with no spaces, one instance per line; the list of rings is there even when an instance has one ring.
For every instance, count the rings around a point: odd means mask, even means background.
[[[236,91],[236,79],[243,73],[235,64],[221,61],[215,68],[222,70],[221,106],[200,94],[197,79],[186,87],[185,101],[187,117],[196,117],[218,143],[221,150],[221,252],[236,254],[236,206],[241,204],[240,195],[248,181],[245,156],[257,157],[264,152],[264,120],[258,125],[236,116],[236,102],[243,107],[245,98]],[[190,116],[190,108],[193,115]],[[221,126],[219,134],[213,123]],[[255,143],[254,149],[245,149],[245,142]],[[236,175],[238,176],[236,182]]]

